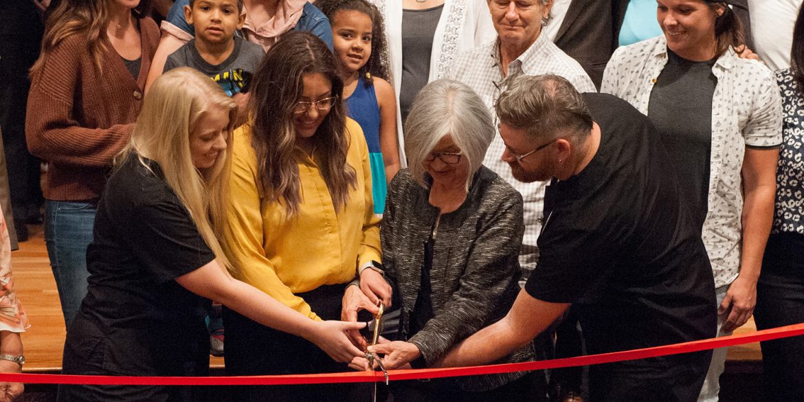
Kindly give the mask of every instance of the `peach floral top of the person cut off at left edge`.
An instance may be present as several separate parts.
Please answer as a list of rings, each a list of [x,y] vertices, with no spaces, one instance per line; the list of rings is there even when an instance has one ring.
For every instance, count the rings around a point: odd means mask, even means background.
[[[0,211],[0,330],[25,332],[28,317],[14,293],[14,280],[11,278],[11,244],[8,239],[6,218]]]

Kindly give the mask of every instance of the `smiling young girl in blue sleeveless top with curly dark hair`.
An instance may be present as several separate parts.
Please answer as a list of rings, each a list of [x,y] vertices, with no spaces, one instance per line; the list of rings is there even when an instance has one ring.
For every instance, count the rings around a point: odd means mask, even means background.
[[[365,0],[319,0],[316,5],[332,24],[334,51],[343,68],[343,97],[349,117],[366,136],[374,212],[382,214],[387,184],[400,170],[396,96],[384,80],[388,70],[379,62],[379,50],[385,47],[382,17]]]

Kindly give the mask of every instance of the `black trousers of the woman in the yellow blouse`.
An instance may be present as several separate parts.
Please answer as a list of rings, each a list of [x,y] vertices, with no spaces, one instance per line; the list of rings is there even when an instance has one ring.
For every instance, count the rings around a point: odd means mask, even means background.
[[[345,285],[298,293],[323,319],[339,320]],[[304,338],[273,330],[224,306],[224,359],[228,375],[290,375],[352,371]],[[352,384],[232,387],[237,401],[349,400]]]

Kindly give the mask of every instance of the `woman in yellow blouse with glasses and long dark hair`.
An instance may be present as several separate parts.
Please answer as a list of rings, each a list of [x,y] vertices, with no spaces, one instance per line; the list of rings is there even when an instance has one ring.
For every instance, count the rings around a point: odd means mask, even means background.
[[[234,133],[227,247],[238,279],[310,319],[353,318],[390,301],[381,274],[379,218],[359,125],[326,45],[291,32],[252,80],[251,121]],[[359,277],[360,286],[348,286]],[[346,293],[345,293],[346,291]],[[230,375],[344,371],[303,338],[224,309]],[[359,338],[359,336],[354,336]],[[357,343],[357,341],[355,341]],[[240,388],[235,400],[338,400],[343,385]]]

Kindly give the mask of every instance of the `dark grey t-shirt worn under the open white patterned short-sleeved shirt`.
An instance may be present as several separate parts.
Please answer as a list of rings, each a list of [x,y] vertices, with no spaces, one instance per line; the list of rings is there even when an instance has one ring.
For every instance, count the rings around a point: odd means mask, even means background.
[[[712,96],[715,59],[690,61],[667,49],[667,65],[650,92],[648,118],[679,174],[679,186],[698,228],[708,211],[712,154]]]

